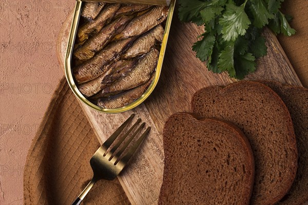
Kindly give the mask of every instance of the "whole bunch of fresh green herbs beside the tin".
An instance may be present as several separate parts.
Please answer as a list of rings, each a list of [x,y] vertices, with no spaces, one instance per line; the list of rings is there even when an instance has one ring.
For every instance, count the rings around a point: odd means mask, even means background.
[[[283,0],[179,0],[179,18],[205,26],[205,33],[192,46],[196,56],[207,61],[214,73],[227,71],[242,79],[256,70],[256,58],[267,48],[261,35],[268,25],[275,34],[293,35],[288,21],[279,11]]]

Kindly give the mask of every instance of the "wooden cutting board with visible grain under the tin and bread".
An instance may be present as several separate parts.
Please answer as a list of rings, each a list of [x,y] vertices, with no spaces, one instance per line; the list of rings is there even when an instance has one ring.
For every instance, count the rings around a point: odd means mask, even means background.
[[[57,42],[57,56],[62,68],[71,19],[72,13],[65,20]],[[207,71],[205,64],[195,57],[191,46],[201,33],[202,27],[182,24],[177,13],[174,15],[158,86],[139,107],[121,114],[103,114],[80,102],[100,142],[105,141],[131,113],[136,113],[152,127],[140,151],[119,176],[132,204],[157,204],[164,169],[162,132],[168,116],[176,112],[189,112],[191,96],[197,90],[236,81],[226,73],[214,74]],[[245,79],[269,79],[302,86],[276,36],[268,29],[264,29],[263,35],[268,48],[267,56],[259,59],[257,72]]]

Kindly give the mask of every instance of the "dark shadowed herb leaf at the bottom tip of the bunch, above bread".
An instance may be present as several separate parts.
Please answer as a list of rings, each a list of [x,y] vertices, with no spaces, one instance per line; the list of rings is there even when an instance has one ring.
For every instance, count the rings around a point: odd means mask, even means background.
[[[252,53],[246,53],[245,55],[237,56],[234,59],[235,75],[238,79],[243,79],[245,75],[252,73],[256,70],[256,58]]]

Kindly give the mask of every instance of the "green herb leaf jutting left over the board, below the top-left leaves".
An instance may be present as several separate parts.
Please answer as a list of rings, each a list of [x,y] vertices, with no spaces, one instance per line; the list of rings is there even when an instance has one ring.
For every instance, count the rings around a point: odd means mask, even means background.
[[[201,61],[205,61],[210,56],[211,50],[214,47],[215,36],[210,33],[204,33],[202,36],[202,40],[196,42],[194,46],[192,46],[192,50],[196,51],[196,57]]]

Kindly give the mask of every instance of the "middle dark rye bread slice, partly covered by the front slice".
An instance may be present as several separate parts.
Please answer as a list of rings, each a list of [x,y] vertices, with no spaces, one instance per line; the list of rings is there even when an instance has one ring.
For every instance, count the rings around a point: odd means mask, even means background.
[[[290,113],[272,89],[254,81],[211,86],[195,93],[191,108],[233,122],[248,138],[256,166],[251,204],[275,204],[287,193],[297,170],[296,139]]]

